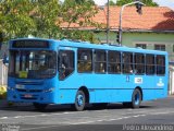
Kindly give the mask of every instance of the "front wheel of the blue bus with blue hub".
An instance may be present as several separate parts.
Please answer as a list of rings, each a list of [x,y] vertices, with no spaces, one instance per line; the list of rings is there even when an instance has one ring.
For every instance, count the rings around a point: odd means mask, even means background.
[[[86,97],[85,97],[85,93],[83,91],[78,91],[76,96],[75,96],[75,110],[76,111],[83,111],[85,109],[86,106]]]

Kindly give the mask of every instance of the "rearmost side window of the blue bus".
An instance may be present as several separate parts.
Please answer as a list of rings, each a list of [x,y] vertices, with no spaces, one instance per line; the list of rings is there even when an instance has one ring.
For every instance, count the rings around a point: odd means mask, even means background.
[[[165,74],[165,57],[164,56],[157,56],[157,74],[164,75]]]

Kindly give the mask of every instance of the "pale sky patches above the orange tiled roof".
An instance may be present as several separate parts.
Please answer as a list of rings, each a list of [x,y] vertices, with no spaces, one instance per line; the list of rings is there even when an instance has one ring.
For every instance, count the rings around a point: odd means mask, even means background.
[[[103,5],[107,3],[108,0],[94,0],[96,4]],[[116,2],[116,0],[112,0]],[[170,9],[174,10],[174,0],[153,0],[157,2],[160,7],[169,7]]]

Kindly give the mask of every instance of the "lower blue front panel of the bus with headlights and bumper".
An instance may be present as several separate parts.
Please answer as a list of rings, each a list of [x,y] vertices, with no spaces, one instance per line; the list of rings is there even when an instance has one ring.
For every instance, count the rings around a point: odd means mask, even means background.
[[[8,79],[8,100],[10,102],[35,102],[35,103],[58,103],[58,76],[49,80],[20,80]],[[49,92],[52,88],[53,92]],[[28,96],[27,96],[28,95]]]

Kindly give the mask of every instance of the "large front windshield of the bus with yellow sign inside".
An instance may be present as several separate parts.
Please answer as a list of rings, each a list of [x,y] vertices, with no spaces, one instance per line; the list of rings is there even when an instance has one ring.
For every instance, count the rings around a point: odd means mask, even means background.
[[[11,50],[9,75],[17,79],[47,79],[57,73],[57,52]]]

